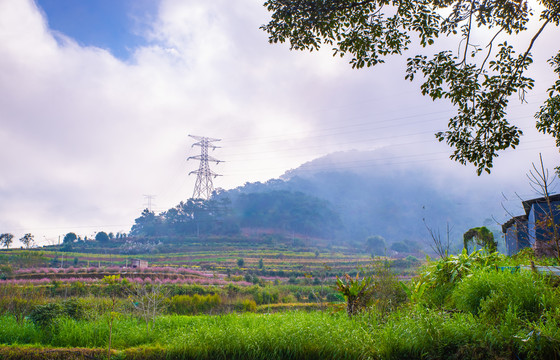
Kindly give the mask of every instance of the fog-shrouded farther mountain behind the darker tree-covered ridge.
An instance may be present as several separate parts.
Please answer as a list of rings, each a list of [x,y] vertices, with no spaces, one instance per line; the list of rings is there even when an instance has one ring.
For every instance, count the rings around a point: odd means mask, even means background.
[[[451,170],[426,162],[382,166],[391,156],[384,149],[333,153],[281,179],[247,183],[228,193],[301,191],[328,200],[338,211],[344,225],[339,239],[360,242],[381,235],[388,242],[424,243],[429,241],[424,219],[442,235],[449,223],[457,240],[472,227],[497,230],[508,213],[519,212],[522,196],[532,196],[524,172],[479,177],[459,165]]]

